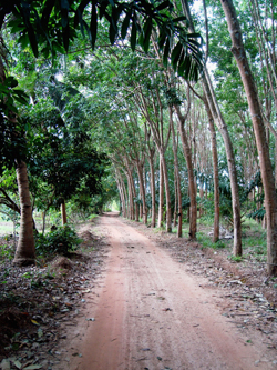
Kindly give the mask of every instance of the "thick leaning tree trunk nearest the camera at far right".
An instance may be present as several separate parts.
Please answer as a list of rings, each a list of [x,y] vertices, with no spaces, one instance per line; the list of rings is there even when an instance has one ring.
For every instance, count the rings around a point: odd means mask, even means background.
[[[232,38],[232,52],[236,59],[244,89],[246,92],[256,144],[259,153],[259,166],[263,184],[265,189],[265,207],[267,217],[267,263],[268,273],[277,274],[277,197],[275,191],[275,179],[269,157],[266,129],[259,104],[258,92],[254,77],[245,53],[242,30],[238,23],[235,7],[232,0],[220,0]]]

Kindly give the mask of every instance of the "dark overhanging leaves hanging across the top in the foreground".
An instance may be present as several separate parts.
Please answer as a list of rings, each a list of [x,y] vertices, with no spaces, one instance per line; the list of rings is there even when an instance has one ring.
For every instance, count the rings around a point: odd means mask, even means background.
[[[83,37],[85,33],[89,36],[94,49],[100,23],[107,24],[111,44],[119,38],[124,40],[127,37],[133,51],[140,43],[147,52],[155,30],[164,64],[171,57],[172,66],[179,76],[197,80],[202,66],[202,38],[199,33],[187,33],[186,18],[174,18],[172,10],[173,4],[168,0],[43,0],[42,3],[11,0],[1,7],[0,28],[6,16],[12,13],[9,20],[11,31],[20,36],[19,42],[23,48],[30,42],[35,57],[40,47],[44,57],[49,53],[55,57],[63,50],[68,52],[79,28]]]

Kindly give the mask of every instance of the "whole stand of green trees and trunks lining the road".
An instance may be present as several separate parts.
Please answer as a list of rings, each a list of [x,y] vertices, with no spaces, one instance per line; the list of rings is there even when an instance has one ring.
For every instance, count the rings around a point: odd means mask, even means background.
[[[236,258],[252,220],[276,276],[276,7],[1,1],[0,212],[20,220],[13,262],[34,263],[49,214],[57,228],[115,207],[191,240],[201,222],[211,243],[227,229]]]

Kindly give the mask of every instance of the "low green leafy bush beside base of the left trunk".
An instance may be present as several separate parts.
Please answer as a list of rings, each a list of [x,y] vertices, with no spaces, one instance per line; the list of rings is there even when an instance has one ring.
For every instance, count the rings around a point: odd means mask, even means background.
[[[39,233],[35,238],[35,249],[39,256],[63,254],[78,249],[82,240],[69,226],[59,227],[48,234]]]

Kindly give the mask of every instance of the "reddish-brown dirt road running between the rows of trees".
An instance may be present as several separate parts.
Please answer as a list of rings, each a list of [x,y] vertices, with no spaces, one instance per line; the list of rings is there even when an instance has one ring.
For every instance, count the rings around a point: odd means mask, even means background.
[[[220,314],[203,279],[119,218],[103,217],[101,229],[111,246],[106,269],[57,369],[276,368],[257,332],[245,337]]]

